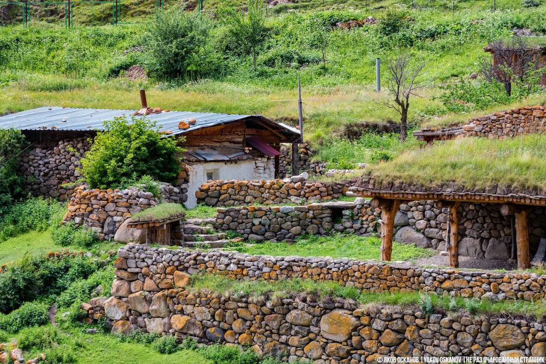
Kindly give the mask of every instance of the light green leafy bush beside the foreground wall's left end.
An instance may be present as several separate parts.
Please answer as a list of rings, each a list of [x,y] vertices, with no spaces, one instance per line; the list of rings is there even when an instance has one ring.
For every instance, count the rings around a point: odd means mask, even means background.
[[[110,287],[114,281],[114,268],[94,272],[87,279],[77,279],[70,287],[63,291],[57,299],[58,307],[70,307],[74,302],[85,302],[91,298],[91,294],[100,285],[105,294],[110,293]]]

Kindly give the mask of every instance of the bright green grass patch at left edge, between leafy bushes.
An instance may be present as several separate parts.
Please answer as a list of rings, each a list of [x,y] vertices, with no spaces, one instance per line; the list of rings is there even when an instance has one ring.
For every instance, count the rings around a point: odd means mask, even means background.
[[[49,252],[59,252],[64,249],[71,251],[91,251],[93,253],[104,250],[115,250],[116,247],[112,247],[111,242],[105,241],[95,244],[91,248],[79,248],[74,246],[60,246],[55,244],[51,240],[50,230],[45,231],[30,231],[26,234],[19,235],[17,237],[9,238],[4,242],[0,242],[0,265],[10,261],[17,261],[23,258],[25,254],[40,255],[47,254]]]

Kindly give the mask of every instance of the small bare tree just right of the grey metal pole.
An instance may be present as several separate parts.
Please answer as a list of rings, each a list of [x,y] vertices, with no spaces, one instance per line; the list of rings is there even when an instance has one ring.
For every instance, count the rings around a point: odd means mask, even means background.
[[[387,89],[391,99],[379,104],[395,109],[400,114],[400,139],[407,137],[407,118],[410,109],[410,96],[416,89],[423,87],[417,82],[417,77],[425,67],[424,63],[412,67],[410,56],[403,54],[396,59],[391,58],[387,68]]]

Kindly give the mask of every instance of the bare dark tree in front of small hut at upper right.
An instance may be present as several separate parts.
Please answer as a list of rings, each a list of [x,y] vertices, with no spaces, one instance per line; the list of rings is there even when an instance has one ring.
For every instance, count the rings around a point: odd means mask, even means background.
[[[533,50],[524,37],[512,37],[510,40],[495,40],[486,48],[492,55],[479,61],[480,75],[485,81],[499,82],[505,88],[506,94],[512,96],[512,83],[531,93],[535,77],[530,77],[538,70],[538,53]]]

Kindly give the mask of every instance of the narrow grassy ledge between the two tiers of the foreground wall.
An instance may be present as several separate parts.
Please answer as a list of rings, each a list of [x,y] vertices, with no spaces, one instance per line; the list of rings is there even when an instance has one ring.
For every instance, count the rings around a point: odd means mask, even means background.
[[[239,281],[228,279],[219,275],[193,275],[191,277],[191,291],[206,291],[221,296],[251,297],[254,302],[274,299],[276,297],[287,298],[292,295],[305,293],[306,295],[323,297],[339,297],[352,299],[360,306],[390,305],[401,309],[416,310],[420,307],[423,294],[419,293],[363,293],[358,288],[344,287],[337,282],[316,282],[311,279],[287,279],[284,281]],[[433,308],[442,309],[452,314],[470,313],[501,314],[518,313],[532,318],[542,319],[546,315],[546,307],[541,303],[507,300],[503,302],[488,302],[477,299],[465,299],[464,297],[438,296],[432,294],[431,305]]]

